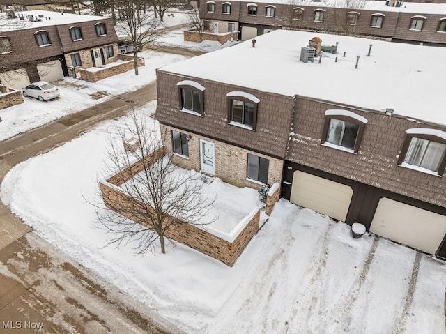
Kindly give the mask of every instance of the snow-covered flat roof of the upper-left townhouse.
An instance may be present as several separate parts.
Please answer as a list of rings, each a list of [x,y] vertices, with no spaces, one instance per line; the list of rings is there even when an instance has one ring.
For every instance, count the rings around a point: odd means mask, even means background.
[[[9,29],[0,28],[0,31],[11,30],[10,29],[11,26],[14,27],[13,30],[31,29],[31,28],[34,29],[43,26],[55,26],[61,24],[75,24],[79,22],[105,20],[107,18],[95,15],[78,15],[78,14],[70,14],[63,12],[52,12],[49,10],[27,10],[24,12],[15,12],[15,15],[17,16],[16,19],[6,19],[4,15],[3,17],[1,17],[1,20],[3,22],[6,22],[5,26],[7,26]],[[38,17],[38,19],[40,19],[41,21],[31,22],[27,18],[28,15],[33,15],[33,17]],[[23,16],[25,20],[20,20],[18,18],[20,16]],[[0,26],[2,26],[2,24],[0,24]]]

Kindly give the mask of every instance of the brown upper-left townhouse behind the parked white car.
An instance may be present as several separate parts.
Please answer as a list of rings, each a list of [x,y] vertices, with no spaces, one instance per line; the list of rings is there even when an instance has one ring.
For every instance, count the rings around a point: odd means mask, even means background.
[[[38,80],[77,77],[79,68],[118,60],[118,38],[111,18],[45,10],[14,16],[7,21],[8,29],[0,31],[0,62],[13,68],[0,73],[6,86],[20,89]]]

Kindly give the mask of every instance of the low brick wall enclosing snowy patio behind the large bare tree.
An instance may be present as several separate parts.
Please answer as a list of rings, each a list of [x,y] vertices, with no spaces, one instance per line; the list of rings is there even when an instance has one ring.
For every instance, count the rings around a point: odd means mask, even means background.
[[[162,150],[155,151],[147,160],[156,159],[162,155]],[[130,166],[132,173],[140,172],[143,164],[136,162]],[[129,219],[133,219],[140,224],[151,227],[148,221],[140,221],[127,210],[130,206],[134,206],[134,200],[127,197],[115,185],[123,183],[132,173],[125,170],[116,175],[110,176],[107,181],[100,181],[100,191],[102,199],[107,207],[112,208],[117,213],[124,215]],[[131,203],[131,204],[130,204]],[[174,220],[175,218],[168,217],[167,220]],[[199,250],[203,254],[222,261],[227,266],[233,266],[236,259],[245,249],[246,245],[252,239],[254,234],[259,231],[260,211],[256,211],[252,218],[247,222],[247,225],[240,232],[240,234],[231,243],[222,238],[210,234],[208,231],[190,224],[176,224],[171,225],[171,228],[166,232],[167,238],[183,243],[195,250]],[[205,227],[206,229],[206,227]]]

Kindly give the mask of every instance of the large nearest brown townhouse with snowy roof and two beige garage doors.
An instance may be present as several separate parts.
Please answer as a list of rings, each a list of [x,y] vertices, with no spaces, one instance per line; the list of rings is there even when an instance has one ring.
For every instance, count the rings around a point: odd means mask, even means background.
[[[282,181],[295,204],[446,258],[446,49],[318,34],[338,54],[300,61],[314,36],[274,31],[158,69],[175,163]]]

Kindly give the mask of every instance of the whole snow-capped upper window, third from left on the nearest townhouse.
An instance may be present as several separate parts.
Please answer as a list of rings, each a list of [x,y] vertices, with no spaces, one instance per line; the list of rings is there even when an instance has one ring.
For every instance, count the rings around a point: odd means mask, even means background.
[[[367,119],[347,110],[327,110],[322,142],[325,146],[357,153]]]

